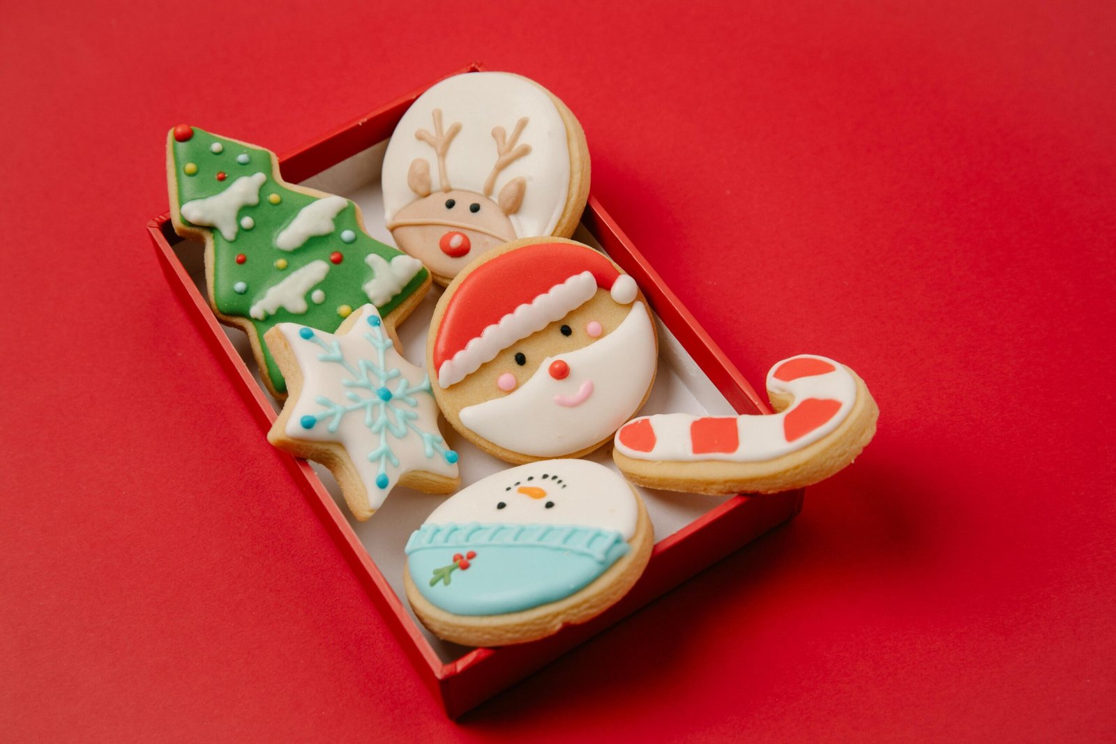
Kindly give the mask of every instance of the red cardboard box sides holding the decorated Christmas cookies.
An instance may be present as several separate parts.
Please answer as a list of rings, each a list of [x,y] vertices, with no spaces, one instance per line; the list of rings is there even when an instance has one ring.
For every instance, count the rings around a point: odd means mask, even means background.
[[[480,69],[481,65],[473,64],[452,75]],[[387,139],[404,112],[424,89],[402,96],[285,154],[279,158],[283,178],[299,183]],[[740,413],[770,413],[752,386],[725,358],[591,195],[581,223],[605,252],[635,278],[652,310],[732,407]],[[174,245],[180,239],[174,232],[170,213],[152,220],[147,229],[167,281],[233,380],[251,415],[256,417],[260,435],[264,436],[276,418],[276,412],[179,259]],[[452,717],[484,702],[702,569],[790,520],[801,511],[804,496],[804,492],[799,490],[729,499],[683,529],[660,539],[638,582],[603,615],[530,644],[465,649],[460,657],[446,663],[439,657],[412,619],[310,465],[290,456],[285,457],[285,462],[315,506],[318,518],[387,618],[420,676]],[[369,663],[374,661],[369,659]]]

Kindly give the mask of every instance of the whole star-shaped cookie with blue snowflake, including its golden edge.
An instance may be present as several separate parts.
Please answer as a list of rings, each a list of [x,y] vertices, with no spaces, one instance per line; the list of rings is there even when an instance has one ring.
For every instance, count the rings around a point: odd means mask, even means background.
[[[396,483],[427,493],[458,487],[458,453],[437,431],[430,378],[396,352],[375,307],[336,334],[279,323],[264,339],[291,389],[268,439],[329,467],[358,520]]]

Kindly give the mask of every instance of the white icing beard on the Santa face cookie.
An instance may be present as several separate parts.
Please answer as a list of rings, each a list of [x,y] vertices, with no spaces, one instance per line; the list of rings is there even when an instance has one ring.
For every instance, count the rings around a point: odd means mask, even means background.
[[[559,457],[613,435],[638,409],[655,374],[655,330],[643,302],[635,302],[613,332],[586,347],[547,357],[519,389],[461,409],[461,423],[492,444],[533,457]],[[565,379],[550,376],[550,363],[569,365]],[[555,396],[573,397],[591,380],[593,393],[567,407]]]

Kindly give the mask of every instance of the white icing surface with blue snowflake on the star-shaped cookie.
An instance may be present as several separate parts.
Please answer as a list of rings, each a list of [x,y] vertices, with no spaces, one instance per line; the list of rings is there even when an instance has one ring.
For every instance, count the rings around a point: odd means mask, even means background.
[[[343,334],[297,323],[277,328],[304,377],[287,435],[340,444],[373,509],[408,472],[456,477],[458,453],[437,431],[430,376],[395,351],[374,306],[360,308]]]

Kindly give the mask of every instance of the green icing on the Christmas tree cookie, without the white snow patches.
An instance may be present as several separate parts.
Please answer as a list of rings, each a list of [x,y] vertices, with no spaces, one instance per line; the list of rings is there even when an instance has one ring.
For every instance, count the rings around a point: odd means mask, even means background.
[[[251,218],[254,225],[250,229],[239,228],[233,240],[225,240],[220,230],[204,225],[194,225],[199,230],[209,231],[213,238],[213,302],[219,312],[225,316],[242,317],[251,321],[258,336],[259,347],[263,350],[263,360],[275,389],[287,390],[287,383],[279,371],[271,351],[263,342],[263,334],[272,326],[281,322],[298,322],[326,332],[333,332],[345,320],[337,309],[347,305],[354,311],[368,302],[363,286],[375,272],[365,261],[369,253],[376,253],[391,261],[400,251],[385,245],[364,232],[356,219],[356,205],[348,202],[344,210],[334,218],[334,231],[328,235],[317,235],[308,239],[300,248],[285,251],[276,247],[277,235],[295,219],[299,211],[318,201],[310,196],[286,187],[275,180],[271,167],[271,153],[252,145],[246,145],[193,127],[193,136],[186,142],[179,142],[173,134],[169,138],[174,167],[174,178],[179,190],[179,207],[195,199],[205,199],[222,193],[241,176],[263,173],[267,181],[260,187],[259,203],[246,205],[237,214],[238,223],[246,216]],[[213,143],[221,145],[220,153],[213,153]],[[240,163],[238,157],[247,155],[248,162]],[[243,157],[241,157],[243,160]],[[196,172],[186,174],[187,163],[196,166]],[[217,174],[223,172],[224,181],[218,181]],[[268,197],[278,194],[279,204],[272,204]],[[185,224],[193,224],[184,216]],[[356,239],[346,243],[341,233],[350,230]],[[330,255],[339,252],[344,257],[339,264],[330,262]],[[237,263],[237,255],[243,253],[244,262]],[[276,261],[286,260],[287,267],[278,269]],[[314,261],[326,261],[329,272],[325,279],[307,290],[307,311],[294,313],[279,308],[263,320],[252,318],[250,308],[260,300],[267,290],[278,284],[292,272]],[[425,269],[416,273],[410,282],[385,305],[376,306],[382,317],[387,317],[404,300],[411,297],[429,276]],[[247,284],[243,293],[234,287],[239,282]],[[310,299],[311,292],[325,292],[325,301],[320,305]]]

